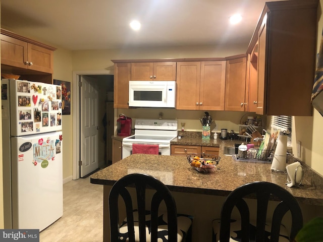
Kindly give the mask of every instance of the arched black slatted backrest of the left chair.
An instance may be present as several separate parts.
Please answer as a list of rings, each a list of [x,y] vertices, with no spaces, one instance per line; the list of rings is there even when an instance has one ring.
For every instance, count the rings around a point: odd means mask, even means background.
[[[136,191],[136,198],[132,197],[127,188],[133,187]],[[154,190],[152,196],[146,196],[146,189]],[[125,203],[127,214],[127,226],[129,242],[135,241],[134,231],[134,202],[137,200],[138,223],[139,223],[139,238],[140,241],[146,241],[145,216],[146,216],[146,199],[151,199],[150,208],[150,236],[151,242],[157,242],[157,226],[158,226],[158,208],[164,201],[167,208],[168,221],[168,240],[177,241],[177,210],[175,200],[170,190],[158,179],[147,174],[128,174],[119,179],[109,195],[109,210],[110,210],[110,228],[111,241],[119,241],[119,206],[118,199],[121,197]],[[147,203],[149,204],[149,203]]]

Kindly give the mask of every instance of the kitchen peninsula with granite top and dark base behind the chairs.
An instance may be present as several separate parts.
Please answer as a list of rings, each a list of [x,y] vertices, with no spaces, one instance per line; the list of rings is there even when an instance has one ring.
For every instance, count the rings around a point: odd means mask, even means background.
[[[223,153],[224,146],[233,146],[234,141],[213,140],[212,142],[212,145],[220,146],[221,157],[218,169],[214,173],[197,172],[189,165],[185,156],[133,154],[92,174],[91,183],[104,185],[104,241],[110,241],[107,204],[110,190],[116,180],[129,173],[150,174],[168,186],[176,200],[178,212],[194,216],[193,241],[210,241],[211,221],[220,216],[221,206],[226,196],[235,188],[252,181],[270,181],[278,184],[296,197],[302,209],[323,206],[322,177],[310,168],[304,167],[303,186],[287,188],[286,174],[271,172],[270,162],[236,161],[232,156],[225,156]],[[215,142],[217,143],[214,144]],[[174,141],[174,143],[177,142]],[[252,201],[254,200],[251,199]],[[305,216],[306,214],[304,218]],[[318,216],[317,213],[316,216]],[[204,229],[201,230],[201,227]]]

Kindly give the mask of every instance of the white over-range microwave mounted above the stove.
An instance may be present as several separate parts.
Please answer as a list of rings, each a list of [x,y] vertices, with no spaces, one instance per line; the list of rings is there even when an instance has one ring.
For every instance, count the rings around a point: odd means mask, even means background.
[[[129,81],[129,107],[175,108],[176,81]]]

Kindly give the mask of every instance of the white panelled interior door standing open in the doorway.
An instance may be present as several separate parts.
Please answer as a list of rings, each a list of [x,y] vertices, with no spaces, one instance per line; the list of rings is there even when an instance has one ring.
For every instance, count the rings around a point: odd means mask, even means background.
[[[80,176],[98,168],[98,91],[94,78],[81,76]]]

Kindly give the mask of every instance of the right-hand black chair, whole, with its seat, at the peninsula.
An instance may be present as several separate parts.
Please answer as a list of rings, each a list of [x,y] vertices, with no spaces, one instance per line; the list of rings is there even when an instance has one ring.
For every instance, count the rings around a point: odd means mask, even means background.
[[[256,196],[255,221],[250,220],[249,206],[244,200],[251,194]],[[273,199],[278,204],[272,213],[268,213],[271,196],[274,196]],[[238,209],[241,220],[231,218],[234,207]],[[288,211],[291,214],[290,231],[282,224]],[[212,225],[212,241],[292,241],[303,226],[303,216],[296,199],[286,189],[273,183],[258,181],[245,184],[230,193],[222,206],[221,218],[213,220]]]

